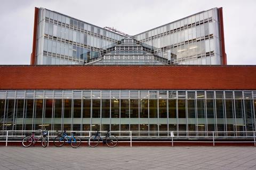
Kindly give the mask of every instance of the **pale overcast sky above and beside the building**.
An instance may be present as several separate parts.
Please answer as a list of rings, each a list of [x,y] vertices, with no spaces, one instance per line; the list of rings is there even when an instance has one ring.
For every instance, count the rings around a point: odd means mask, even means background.
[[[34,7],[66,14],[129,35],[197,12],[223,7],[228,64],[256,64],[256,1],[11,1],[0,6],[0,64],[30,64]]]

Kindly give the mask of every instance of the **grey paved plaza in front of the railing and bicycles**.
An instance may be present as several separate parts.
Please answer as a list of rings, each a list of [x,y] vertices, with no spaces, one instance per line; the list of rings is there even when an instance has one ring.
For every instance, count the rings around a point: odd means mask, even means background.
[[[0,147],[0,169],[256,169],[256,147]]]

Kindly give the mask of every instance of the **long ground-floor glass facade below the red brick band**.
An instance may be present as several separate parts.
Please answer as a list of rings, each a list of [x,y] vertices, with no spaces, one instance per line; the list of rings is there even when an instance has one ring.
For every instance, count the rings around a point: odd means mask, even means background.
[[[0,91],[3,130],[138,131],[137,136],[255,131],[256,91]],[[148,131],[154,131],[148,133]],[[184,134],[182,131],[198,131]],[[166,136],[166,134],[165,134]]]

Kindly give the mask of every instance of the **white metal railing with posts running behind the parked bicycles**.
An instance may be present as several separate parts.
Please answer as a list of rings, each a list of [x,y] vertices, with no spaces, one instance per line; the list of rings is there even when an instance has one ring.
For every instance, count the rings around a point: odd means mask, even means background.
[[[42,131],[0,131],[0,142],[21,142],[23,137],[31,135],[31,132],[39,136]],[[60,132],[63,131],[47,131],[48,141],[53,142]],[[82,142],[96,131],[66,131],[67,133],[76,132],[76,136],[80,137]],[[107,131],[99,131],[102,136]],[[254,143],[256,147],[256,131],[111,131],[111,135],[118,138],[118,142],[128,142],[130,147],[134,142],[169,142],[172,147],[175,142],[191,142],[191,143]],[[48,144],[49,145],[49,144]]]

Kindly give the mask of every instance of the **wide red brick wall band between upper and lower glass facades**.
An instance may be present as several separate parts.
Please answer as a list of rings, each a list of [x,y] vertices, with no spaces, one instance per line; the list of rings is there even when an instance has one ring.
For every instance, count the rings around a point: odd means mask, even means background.
[[[0,89],[256,90],[256,66],[0,66]]]

